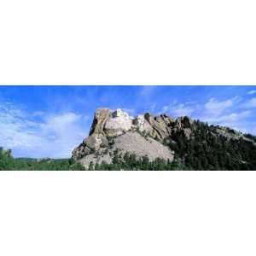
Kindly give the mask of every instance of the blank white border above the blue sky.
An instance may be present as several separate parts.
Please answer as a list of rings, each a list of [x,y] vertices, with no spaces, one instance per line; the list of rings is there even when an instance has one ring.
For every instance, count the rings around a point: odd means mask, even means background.
[[[0,84],[256,84],[255,1],[9,0]]]

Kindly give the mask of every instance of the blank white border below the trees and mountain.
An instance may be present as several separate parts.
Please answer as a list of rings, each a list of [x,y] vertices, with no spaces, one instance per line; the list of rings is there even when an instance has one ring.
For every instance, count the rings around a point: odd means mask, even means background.
[[[1,255],[256,253],[256,172],[0,175]]]

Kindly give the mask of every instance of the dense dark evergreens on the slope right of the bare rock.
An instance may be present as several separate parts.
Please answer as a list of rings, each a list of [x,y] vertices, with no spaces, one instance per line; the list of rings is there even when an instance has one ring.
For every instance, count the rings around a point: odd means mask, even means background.
[[[256,146],[250,140],[221,136],[216,126],[196,121],[194,137],[179,136],[168,145],[191,170],[255,170]]]

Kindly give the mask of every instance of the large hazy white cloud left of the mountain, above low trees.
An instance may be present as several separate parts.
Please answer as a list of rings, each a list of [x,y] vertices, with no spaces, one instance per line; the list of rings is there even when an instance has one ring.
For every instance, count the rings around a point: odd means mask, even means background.
[[[33,114],[10,103],[0,104],[0,146],[29,157],[66,158],[86,136],[82,117],[76,113],[43,115],[33,121]]]

